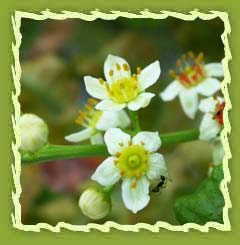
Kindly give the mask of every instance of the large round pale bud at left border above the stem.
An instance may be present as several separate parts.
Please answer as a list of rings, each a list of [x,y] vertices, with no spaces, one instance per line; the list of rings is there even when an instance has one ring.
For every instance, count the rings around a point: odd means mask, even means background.
[[[20,117],[20,150],[36,152],[48,141],[48,126],[34,114],[24,114]]]

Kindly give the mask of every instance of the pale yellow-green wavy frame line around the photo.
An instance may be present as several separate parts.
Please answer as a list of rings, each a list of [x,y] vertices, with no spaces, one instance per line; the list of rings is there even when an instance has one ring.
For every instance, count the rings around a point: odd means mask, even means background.
[[[194,223],[175,226],[162,221],[156,222],[155,225],[150,225],[146,223],[138,223],[136,225],[120,225],[112,221],[108,221],[103,225],[94,224],[94,223],[89,223],[87,225],[71,225],[64,222],[59,222],[56,226],[51,226],[47,223],[38,223],[36,225],[22,224],[21,205],[19,202],[19,197],[21,194],[21,186],[20,186],[21,156],[20,153],[18,152],[18,148],[20,146],[20,135],[19,135],[19,127],[18,127],[19,118],[20,118],[20,104],[18,102],[18,96],[20,95],[20,91],[21,91],[21,87],[20,87],[21,67],[19,61],[19,47],[21,44],[21,33],[20,33],[21,19],[30,18],[34,20],[45,20],[45,19],[62,20],[66,18],[79,18],[86,21],[94,21],[97,18],[101,18],[104,20],[114,20],[118,17],[165,19],[170,16],[185,21],[193,21],[196,18],[200,18],[203,20],[220,18],[224,23],[225,28],[221,36],[224,44],[224,50],[225,50],[225,57],[222,60],[222,64],[224,66],[224,74],[225,74],[224,80],[222,82],[222,92],[224,94],[226,106],[224,109],[224,129],[222,130],[221,133],[221,139],[224,145],[225,156],[223,159],[224,179],[220,184],[220,189],[225,199],[225,206],[223,209],[224,224],[219,224],[216,222],[208,222],[203,226]],[[138,232],[140,229],[146,229],[152,232],[159,232],[161,228],[171,230],[171,231],[183,231],[183,232],[187,232],[190,229],[196,229],[201,232],[208,232],[209,228],[215,228],[221,231],[231,230],[231,225],[228,217],[228,211],[229,208],[231,208],[231,201],[227,188],[227,183],[230,182],[228,160],[231,158],[229,142],[228,142],[228,134],[231,131],[231,127],[228,119],[228,111],[231,109],[231,102],[230,102],[228,88],[227,88],[231,80],[230,72],[228,69],[228,62],[231,59],[231,52],[228,44],[228,35],[231,32],[231,28],[228,19],[228,14],[226,12],[210,11],[208,13],[201,13],[197,10],[194,10],[194,11],[190,11],[188,14],[182,14],[182,13],[170,12],[170,11],[161,11],[159,13],[152,13],[149,12],[148,10],[144,10],[144,11],[140,11],[139,13],[130,13],[130,12],[121,12],[121,11],[110,11],[109,13],[103,13],[98,10],[95,10],[95,11],[90,11],[88,14],[86,14],[86,13],[69,12],[69,11],[61,11],[59,13],[54,13],[54,12],[50,12],[49,10],[46,10],[46,11],[42,11],[40,14],[34,14],[29,12],[16,11],[14,16],[12,16],[12,26],[13,26],[13,32],[15,37],[15,42],[12,44],[12,51],[14,56],[14,64],[12,66],[12,76],[13,76],[14,86],[15,86],[15,91],[12,93],[12,102],[14,105],[12,124],[13,124],[13,131],[15,135],[15,143],[14,142],[12,143],[12,151],[15,158],[15,162],[12,165],[12,173],[13,173],[13,180],[15,186],[15,192],[12,193],[12,200],[15,209],[14,213],[12,214],[12,222],[15,228],[24,231],[35,231],[35,232],[39,232],[41,229],[47,229],[52,232],[60,232],[62,228],[72,230],[72,231],[84,231],[84,232],[89,232],[91,229],[96,229],[101,232],[109,232],[110,228],[116,228],[122,231],[134,231],[134,232]]]

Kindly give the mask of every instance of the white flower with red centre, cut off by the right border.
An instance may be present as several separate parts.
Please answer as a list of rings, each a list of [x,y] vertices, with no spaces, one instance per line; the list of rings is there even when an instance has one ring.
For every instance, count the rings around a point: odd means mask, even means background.
[[[214,140],[218,137],[223,126],[224,106],[225,102],[221,97],[201,100],[199,109],[205,113],[199,128],[201,140]]]

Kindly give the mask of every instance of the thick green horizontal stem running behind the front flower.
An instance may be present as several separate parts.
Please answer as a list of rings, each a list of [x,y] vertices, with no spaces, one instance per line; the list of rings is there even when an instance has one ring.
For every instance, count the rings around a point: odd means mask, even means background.
[[[198,136],[198,129],[185,130],[170,134],[160,134],[162,147],[197,140]],[[107,147],[105,145],[46,145],[36,153],[22,153],[21,159],[22,164],[26,165],[63,159],[108,155]]]

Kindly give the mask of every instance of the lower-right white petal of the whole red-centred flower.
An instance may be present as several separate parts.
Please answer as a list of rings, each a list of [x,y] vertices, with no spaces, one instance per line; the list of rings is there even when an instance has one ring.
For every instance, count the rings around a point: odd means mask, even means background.
[[[202,95],[211,96],[221,89],[221,83],[216,78],[206,78],[196,89]]]

